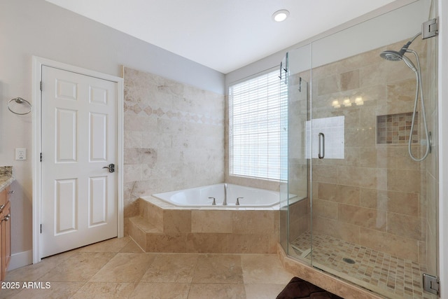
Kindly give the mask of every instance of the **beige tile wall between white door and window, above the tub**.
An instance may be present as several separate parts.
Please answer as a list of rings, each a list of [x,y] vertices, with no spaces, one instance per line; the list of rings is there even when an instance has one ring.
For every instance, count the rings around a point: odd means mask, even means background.
[[[137,198],[224,181],[224,96],[125,67],[125,217]]]

